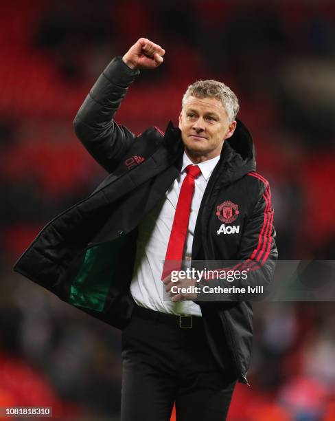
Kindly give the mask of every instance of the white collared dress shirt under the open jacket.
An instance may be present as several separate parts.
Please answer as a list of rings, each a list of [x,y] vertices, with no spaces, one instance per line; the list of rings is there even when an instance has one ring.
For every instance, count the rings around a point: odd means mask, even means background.
[[[201,174],[195,180],[183,256],[185,261],[191,261],[194,229],[200,203],[209,177],[219,159],[220,155],[197,164]],[[181,174],[178,175],[167,190],[165,198],[144,217],[139,225],[137,252],[130,292],[135,302],[142,307],[163,313],[201,316],[200,306],[193,301],[173,303],[170,297],[167,296],[164,284],[161,281],[163,261],[165,260],[167,244],[170,239],[179,192],[186,177],[185,168],[189,164],[192,164],[192,161],[184,152]]]

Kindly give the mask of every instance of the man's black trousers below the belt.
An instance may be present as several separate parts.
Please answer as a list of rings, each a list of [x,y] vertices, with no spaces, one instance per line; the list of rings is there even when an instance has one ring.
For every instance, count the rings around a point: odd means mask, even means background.
[[[236,378],[219,370],[203,319],[161,314],[135,305],[122,332],[121,420],[169,421],[174,402],[177,421],[225,420]]]

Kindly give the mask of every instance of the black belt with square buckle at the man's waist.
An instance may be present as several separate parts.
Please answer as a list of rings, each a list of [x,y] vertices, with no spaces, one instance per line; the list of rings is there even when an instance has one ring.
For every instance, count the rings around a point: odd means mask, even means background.
[[[166,323],[167,325],[181,327],[182,329],[199,329],[203,327],[202,317],[185,316],[183,314],[176,316],[176,314],[157,312],[146,307],[141,307],[137,304],[135,304],[134,312],[132,314],[141,317],[142,319],[159,321],[161,323]]]

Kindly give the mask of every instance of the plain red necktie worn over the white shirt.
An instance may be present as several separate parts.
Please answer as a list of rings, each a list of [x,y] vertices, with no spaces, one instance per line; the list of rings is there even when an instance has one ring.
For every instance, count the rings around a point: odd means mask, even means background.
[[[183,250],[189,223],[189,211],[191,210],[194,193],[194,182],[201,172],[198,165],[187,165],[185,171],[187,175],[181,185],[181,191],[178,197],[169,244],[167,244],[162,279],[170,275],[172,270],[180,270],[181,261],[183,260]]]

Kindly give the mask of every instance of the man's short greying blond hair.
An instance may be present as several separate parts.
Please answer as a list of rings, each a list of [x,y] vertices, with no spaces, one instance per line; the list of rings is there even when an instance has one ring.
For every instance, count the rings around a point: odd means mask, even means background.
[[[183,107],[189,96],[195,96],[196,98],[217,98],[222,102],[229,121],[231,122],[235,120],[240,109],[238,97],[233,93],[230,87],[218,80],[196,80],[192,85],[189,85],[183,96]]]

